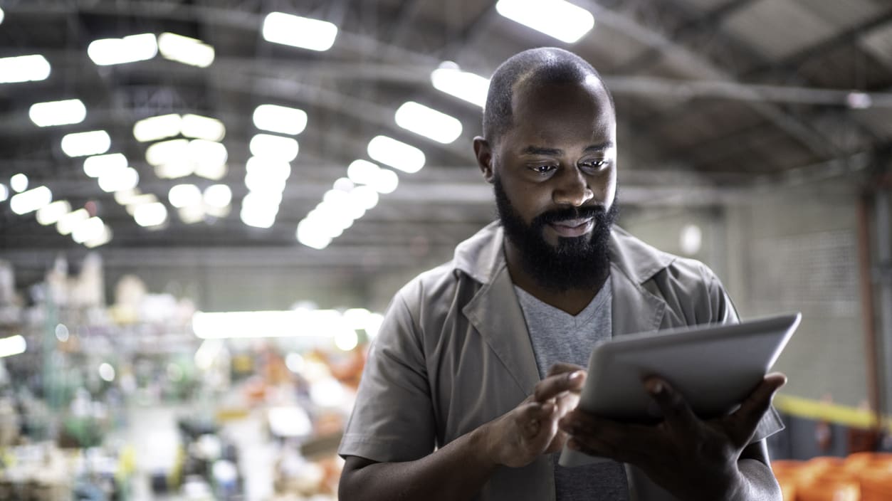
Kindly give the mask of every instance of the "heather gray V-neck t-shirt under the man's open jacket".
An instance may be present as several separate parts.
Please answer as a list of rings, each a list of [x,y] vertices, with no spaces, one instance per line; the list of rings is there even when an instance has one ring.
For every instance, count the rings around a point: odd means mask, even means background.
[[[588,365],[595,342],[612,336],[613,290],[609,279],[589,306],[576,316],[536,299],[519,287],[515,286],[515,291],[524,310],[526,328],[542,378],[549,367],[558,362]],[[623,464],[609,462],[565,468],[558,464],[559,456],[558,452],[553,457],[558,501],[625,501],[629,498]]]

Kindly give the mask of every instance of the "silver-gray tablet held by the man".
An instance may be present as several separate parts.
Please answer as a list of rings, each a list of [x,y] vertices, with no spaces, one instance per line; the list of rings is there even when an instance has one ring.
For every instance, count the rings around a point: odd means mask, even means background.
[[[656,423],[642,381],[659,375],[703,418],[727,415],[762,382],[796,331],[800,313],[741,324],[706,324],[602,341],[591,351],[579,407],[618,421]],[[603,461],[564,448],[558,464]]]

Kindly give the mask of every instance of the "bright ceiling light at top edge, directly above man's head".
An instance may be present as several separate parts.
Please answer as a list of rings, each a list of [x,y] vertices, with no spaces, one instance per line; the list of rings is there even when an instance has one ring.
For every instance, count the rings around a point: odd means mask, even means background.
[[[567,44],[573,44],[595,27],[591,12],[564,0],[499,0],[496,11]]]

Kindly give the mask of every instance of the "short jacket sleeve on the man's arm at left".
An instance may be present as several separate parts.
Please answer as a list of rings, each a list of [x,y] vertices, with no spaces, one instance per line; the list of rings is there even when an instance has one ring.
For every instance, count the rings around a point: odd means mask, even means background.
[[[338,454],[373,461],[418,459],[434,451],[434,411],[420,333],[401,294],[368,353]]]

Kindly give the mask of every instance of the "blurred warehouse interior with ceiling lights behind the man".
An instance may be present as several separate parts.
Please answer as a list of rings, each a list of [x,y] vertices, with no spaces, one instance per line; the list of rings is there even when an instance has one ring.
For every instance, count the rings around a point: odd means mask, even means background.
[[[620,226],[803,312],[785,496],[892,498],[885,0],[0,0],[0,498],[334,499],[392,294],[495,218],[488,78],[542,45],[615,96]]]

